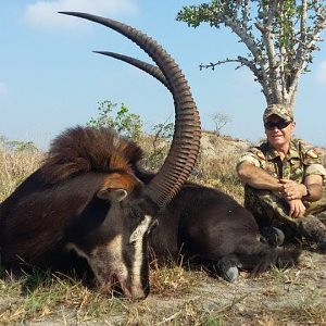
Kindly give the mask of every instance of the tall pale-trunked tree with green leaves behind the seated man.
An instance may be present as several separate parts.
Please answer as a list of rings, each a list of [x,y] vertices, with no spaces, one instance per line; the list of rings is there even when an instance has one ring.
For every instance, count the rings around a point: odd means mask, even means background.
[[[226,58],[202,64],[213,68],[226,62],[247,66],[261,84],[267,104],[285,103],[293,108],[300,75],[308,72],[312,53],[318,50],[326,25],[325,0],[212,0],[184,7],[178,21],[198,27],[225,26],[244,43],[247,57]]]

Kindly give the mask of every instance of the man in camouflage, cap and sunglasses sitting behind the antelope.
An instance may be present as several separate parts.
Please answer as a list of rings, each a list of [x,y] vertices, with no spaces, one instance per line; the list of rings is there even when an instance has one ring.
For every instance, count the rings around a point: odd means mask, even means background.
[[[250,148],[237,165],[244,186],[244,206],[251,211],[264,239],[280,246],[284,237],[303,236],[326,252],[325,167],[318,151],[292,134],[292,111],[272,104],[263,115],[267,140]]]

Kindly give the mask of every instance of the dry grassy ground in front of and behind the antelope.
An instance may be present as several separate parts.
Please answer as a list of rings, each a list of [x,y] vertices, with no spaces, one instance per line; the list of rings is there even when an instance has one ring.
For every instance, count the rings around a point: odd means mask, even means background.
[[[191,178],[241,202],[234,173],[238,152],[224,155],[221,143],[217,148],[220,159],[202,153]],[[36,151],[0,150],[0,201],[41,159]],[[272,268],[255,278],[242,272],[235,284],[176,263],[153,263],[150,277],[151,294],[133,302],[71,275],[36,269],[14,278],[2,271],[0,325],[326,325],[326,255],[313,251],[304,251],[298,267]]]

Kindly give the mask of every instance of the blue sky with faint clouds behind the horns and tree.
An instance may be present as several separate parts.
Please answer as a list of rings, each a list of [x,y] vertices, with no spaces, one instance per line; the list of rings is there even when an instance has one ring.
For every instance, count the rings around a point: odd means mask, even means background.
[[[168,91],[147,74],[92,53],[108,50],[149,61],[133,42],[103,26],[57,14],[84,11],[127,23],[156,39],[181,66],[203,128],[214,127],[212,115],[226,113],[231,122],[223,133],[255,141],[264,136],[265,100],[260,85],[246,70],[225,64],[199,70],[244,53],[226,29],[202,25],[196,29],[175,17],[195,0],[20,0],[0,2],[0,135],[33,140],[46,148],[63,129],[84,125],[97,114],[97,103],[124,102],[150,128],[173,115]],[[325,33],[324,33],[325,36]],[[314,53],[311,73],[298,92],[297,136],[326,146],[326,43]]]

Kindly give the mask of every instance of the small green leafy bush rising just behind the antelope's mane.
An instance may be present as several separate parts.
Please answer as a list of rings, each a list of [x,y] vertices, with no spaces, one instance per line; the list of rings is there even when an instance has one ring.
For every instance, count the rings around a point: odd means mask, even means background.
[[[120,135],[123,135],[134,141],[138,141],[142,133],[142,122],[140,116],[130,113],[128,108],[109,100],[99,102],[97,117],[91,117],[87,123],[88,126],[93,128],[109,127],[114,129]]]

